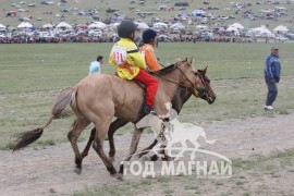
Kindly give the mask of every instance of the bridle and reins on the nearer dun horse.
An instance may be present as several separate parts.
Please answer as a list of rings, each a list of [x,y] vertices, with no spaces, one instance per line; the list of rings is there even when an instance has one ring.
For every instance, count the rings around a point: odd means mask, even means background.
[[[183,61],[182,61],[182,62],[183,62]],[[179,63],[179,62],[177,62],[177,63]],[[184,72],[183,70],[180,69],[180,66],[179,66],[177,63],[173,64],[174,68],[177,69],[177,70],[179,70],[179,71],[187,78],[187,81],[192,84],[192,86],[187,86],[187,85],[184,85],[184,84],[181,84],[181,83],[171,81],[171,79],[164,77],[164,75],[161,75],[161,74],[159,74],[159,73],[157,73],[157,72],[151,72],[151,73],[154,73],[155,75],[157,75],[157,76],[163,78],[163,79],[167,81],[167,82],[170,82],[170,83],[173,83],[173,84],[177,84],[180,87],[185,88],[186,90],[189,89],[189,90],[197,97],[197,96],[200,94],[199,90],[196,88],[195,84],[187,77],[186,72]],[[196,73],[197,73],[197,72],[196,72]],[[198,75],[198,76],[199,76],[199,75]],[[201,82],[204,82],[203,77],[200,77],[200,79],[201,79]],[[204,83],[204,85],[206,85],[206,84]]]

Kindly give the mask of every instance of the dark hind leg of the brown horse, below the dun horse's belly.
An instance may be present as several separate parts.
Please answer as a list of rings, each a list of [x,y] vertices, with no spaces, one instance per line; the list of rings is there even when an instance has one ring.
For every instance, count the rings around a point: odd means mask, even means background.
[[[115,155],[115,146],[114,146],[114,139],[113,134],[119,130],[120,127],[127,124],[128,121],[117,119],[110,124],[109,131],[108,131],[108,139],[109,139],[109,157],[113,158]]]

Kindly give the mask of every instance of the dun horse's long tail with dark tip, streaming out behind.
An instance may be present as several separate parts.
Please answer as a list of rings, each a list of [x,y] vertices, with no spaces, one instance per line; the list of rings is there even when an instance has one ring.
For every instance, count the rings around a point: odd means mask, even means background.
[[[51,117],[41,127],[15,135],[16,139],[13,151],[23,149],[27,145],[40,138],[44,130],[53,121],[54,118],[57,118],[66,108],[69,103],[71,103],[72,107],[76,108],[75,95],[76,89],[74,87],[69,87],[62,90],[52,107]]]

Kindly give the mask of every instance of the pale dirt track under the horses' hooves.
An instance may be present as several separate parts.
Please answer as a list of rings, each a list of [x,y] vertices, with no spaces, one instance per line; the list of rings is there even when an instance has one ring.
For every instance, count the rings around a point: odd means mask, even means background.
[[[208,138],[217,139],[216,144],[204,148],[229,158],[294,148],[294,113],[199,125],[205,128]],[[130,140],[130,134],[115,137],[115,168],[127,154]],[[152,134],[145,134],[140,147],[151,140]],[[79,146],[83,148],[85,143]],[[108,151],[107,142],[105,146]],[[120,184],[110,177],[93,149],[83,162],[82,174],[76,174],[70,143],[38,150],[27,148],[14,154],[0,150],[0,195],[68,195],[93,185]],[[132,181],[132,177],[126,176],[125,181],[128,180]]]

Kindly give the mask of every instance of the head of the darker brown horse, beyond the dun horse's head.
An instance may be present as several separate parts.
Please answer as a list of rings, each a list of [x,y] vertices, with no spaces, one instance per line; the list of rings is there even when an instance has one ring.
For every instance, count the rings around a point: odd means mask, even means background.
[[[210,79],[206,75],[207,66],[204,70],[198,70],[195,72],[196,88],[198,90],[198,97],[206,100],[209,105],[212,105],[217,99],[217,95],[210,86]]]

